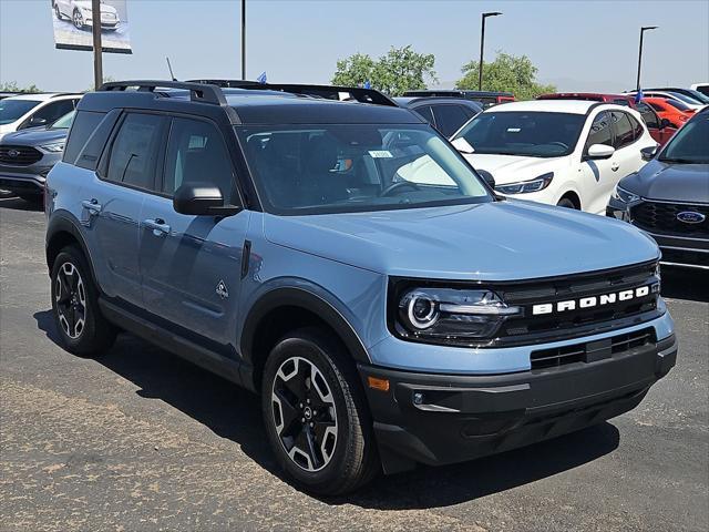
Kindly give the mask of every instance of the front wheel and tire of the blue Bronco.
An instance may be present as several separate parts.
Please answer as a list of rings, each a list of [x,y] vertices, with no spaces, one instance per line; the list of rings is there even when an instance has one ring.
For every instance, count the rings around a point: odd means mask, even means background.
[[[305,490],[343,494],[379,472],[357,370],[340,342],[320,329],[296,330],[270,351],[261,409],[278,463]]]

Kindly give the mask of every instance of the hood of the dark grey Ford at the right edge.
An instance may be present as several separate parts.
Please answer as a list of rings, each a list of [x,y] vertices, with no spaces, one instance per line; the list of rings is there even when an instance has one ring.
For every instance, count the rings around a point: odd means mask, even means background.
[[[709,203],[709,164],[677,164],[653,160],[619,185],[647,200]]]

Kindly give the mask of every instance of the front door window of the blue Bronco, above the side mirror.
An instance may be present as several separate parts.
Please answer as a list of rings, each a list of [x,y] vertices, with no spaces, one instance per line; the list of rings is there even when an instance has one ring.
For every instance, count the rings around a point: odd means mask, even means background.
[[[232,203],[235,197],[229,154],[222,133],[208,122],[173,120],[162,192],[172,196],[183,183],[217,186],[226,203]]]

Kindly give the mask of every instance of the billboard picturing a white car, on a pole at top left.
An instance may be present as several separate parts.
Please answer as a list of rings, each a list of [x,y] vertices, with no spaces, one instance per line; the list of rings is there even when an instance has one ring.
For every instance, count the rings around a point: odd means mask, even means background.
[[[101,0],[101,45],[104,52],[133,53],[127,0]],[[91,0],[51,0],[54,43],[63,50],[93,50]]]

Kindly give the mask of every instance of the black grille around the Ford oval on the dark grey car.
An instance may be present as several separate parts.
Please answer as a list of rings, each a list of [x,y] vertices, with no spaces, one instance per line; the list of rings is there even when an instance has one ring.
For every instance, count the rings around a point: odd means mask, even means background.
[[[677,219],[684,212],[699,213],[705,221],[688,224]],[[709,205],[643,202],[630,209],[633,223],[650,233],[709,238]]]

